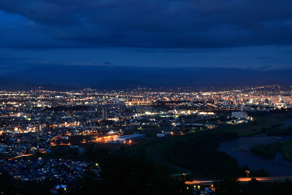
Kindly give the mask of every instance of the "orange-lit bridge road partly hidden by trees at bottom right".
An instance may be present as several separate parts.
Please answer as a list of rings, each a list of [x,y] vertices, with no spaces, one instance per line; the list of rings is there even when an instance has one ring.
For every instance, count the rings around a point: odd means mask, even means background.
[[[251,178],[256,178],[260,182],[275,182],[275,181],[285,181],[286,179],[292,179],[292,176],[281,176],[281,177],[239,177],[239,183],[248,183]],[[185,182],[189,185],[195,184],[203,184],[203,185],[212,185],[216,181],[220,181],[221,179],[215,178],[197,178],[192,182]]]

